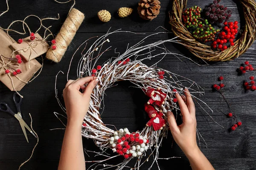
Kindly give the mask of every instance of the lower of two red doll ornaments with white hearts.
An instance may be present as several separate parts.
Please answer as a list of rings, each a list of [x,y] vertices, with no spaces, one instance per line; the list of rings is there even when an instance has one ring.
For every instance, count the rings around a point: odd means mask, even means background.
[[[166,121],[162,118],[163,113],[155,110],[151,105],[145,105],[145,111],[148,113],[149,118],[151,118],[146,125],[153,126],[154,130],[159,130],[161,127],[165,126]]]

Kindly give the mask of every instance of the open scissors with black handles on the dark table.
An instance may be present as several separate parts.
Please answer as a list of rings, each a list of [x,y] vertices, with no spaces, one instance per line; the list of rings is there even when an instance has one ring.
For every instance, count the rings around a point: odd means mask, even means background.
[[[33,136],[35,136],[35,133],[30,129],[30,127],[22,119],[21,110],[20,110],[22,98],[21,98],[21,96],[19,96],[18,94],[15,93],[15,94],[13,94],[13,100],[14,100],[16,108],[17,108],[16,114],[14,111],[12,111],[12,109],[9,107],[9,105],[6,102],[0,102],[0,111],[7,112],[7,113],[10,113],[12,116],[15,116],[15,118],[20,122],[20,127],[24,133],[26,141],[29,143],[28,136],[26,134],[26,129],[29,130],[29,132],[32,133]],[[37,137],[35,136],[35,138],[37,138]]]

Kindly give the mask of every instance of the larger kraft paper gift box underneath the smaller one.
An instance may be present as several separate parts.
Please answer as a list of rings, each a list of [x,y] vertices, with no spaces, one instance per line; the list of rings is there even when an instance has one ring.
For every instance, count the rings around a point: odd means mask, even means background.
[[[0,29],[0,55],[4,57],[11,58],[11,54],[13,49],[11,45],[15,42],[9,35],[6,34],[5,31]],[[2,57],[5,63],[9,62],[9,59]],[[15,54],[14,54],[15,57]],[[2,61],[2,59],[0,59]],[[5,69],[2,68],[3,63],[0,62],[0,81],[3,82],[11,91],[20,91],[28,82],[34,74],[42,67],[42,65],[36,60],[30,60],[30,69],[29,62],[23,59],[23,62],[19,64],[19,67],[15,69],[20,69],[22,73],[17,74],[17,77],[12,75],[12,71],[10,70],[9,75],[5,74]],[[16,61],[12,61],[12,63],[17,63]],[[12,85],[13,83],[13,85]],[[15,88],[15,89],[14,89]]]

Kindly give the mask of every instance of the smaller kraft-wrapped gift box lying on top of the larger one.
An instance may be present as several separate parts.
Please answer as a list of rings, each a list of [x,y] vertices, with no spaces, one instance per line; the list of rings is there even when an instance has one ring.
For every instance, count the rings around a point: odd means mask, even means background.
[[[46,53],[49,49],[49,44],[36,33],[35,40],[30,40],[30,37],[26,37],[22,43],[14,42],[12,48],[16,54],[20,54],[26,61],[30,61]]]

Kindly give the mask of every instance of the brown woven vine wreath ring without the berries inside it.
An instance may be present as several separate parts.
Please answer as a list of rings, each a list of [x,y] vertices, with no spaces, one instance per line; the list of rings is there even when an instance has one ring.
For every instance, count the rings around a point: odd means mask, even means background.
[[[182,11],[187,0],[174,0],[172,11],[169,12],[172,31],[189,51],[196,57],[207,61],[229,61],[244,54],[256,38],[256,3],[254,0],[239,0],[244,10],[245,26],[241,37],[233,46],[224,51],[214,51],[211,46],[202,44],[192,37],[192,34],[182,24]]]

